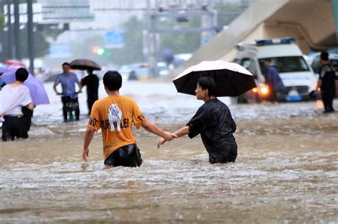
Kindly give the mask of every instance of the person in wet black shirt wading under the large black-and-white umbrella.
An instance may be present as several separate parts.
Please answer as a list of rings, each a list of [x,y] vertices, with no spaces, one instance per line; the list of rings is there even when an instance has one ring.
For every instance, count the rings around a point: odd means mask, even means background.
[[[235,162],[237,158],[237,143],[232,135],[236,131],[235,121],[229,108],[216,96],[216,84],[213,78],[203,76],[198,80],[195,90],[196,98],[205,103],[198,108],[195,116],[183,128],[173,134],[181,137],[188,135],[194,138],[200,134],[203,145],[209,154],[210,163]],[[158,148],[165,143],[160,138]]]

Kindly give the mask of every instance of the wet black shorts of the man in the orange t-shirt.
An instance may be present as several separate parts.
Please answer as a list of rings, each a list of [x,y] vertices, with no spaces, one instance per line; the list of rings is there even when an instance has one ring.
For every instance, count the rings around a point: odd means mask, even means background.
[[[104,161],[106,166],[128,166],[136,167],[142,164],[140,149],[136,144],[130,144],[116,149]]]

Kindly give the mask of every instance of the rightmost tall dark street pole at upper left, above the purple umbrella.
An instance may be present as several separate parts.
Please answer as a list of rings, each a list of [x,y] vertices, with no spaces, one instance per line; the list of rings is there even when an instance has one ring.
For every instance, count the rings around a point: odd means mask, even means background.
[[[33,0],[27,0],[28,15],[28,46],[29,46],[29,71],[34,76],[34,33],[33,33]]]

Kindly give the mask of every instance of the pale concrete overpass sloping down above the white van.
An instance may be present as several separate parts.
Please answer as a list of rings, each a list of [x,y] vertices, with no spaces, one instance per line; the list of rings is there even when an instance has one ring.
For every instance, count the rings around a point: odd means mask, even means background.
[[[242,41],[290,36],[304,54],[337,47],[337,17],[338,0],[257,0],[172,74],[178,75],[200,61],[231,61],[235,45]]]

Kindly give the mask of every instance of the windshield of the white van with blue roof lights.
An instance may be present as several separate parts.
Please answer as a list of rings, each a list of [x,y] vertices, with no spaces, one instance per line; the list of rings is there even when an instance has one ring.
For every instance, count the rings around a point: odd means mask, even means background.
[[[260,58],[260,70],[265,73],[264,66],[265,58]],[[276,57],[271,58],[272,65],[276,66],[280,73],[283,72],[294,72],[294,71],[309,71],[309,66],[305,62],[302,56],[287,56],[287,57]]]

